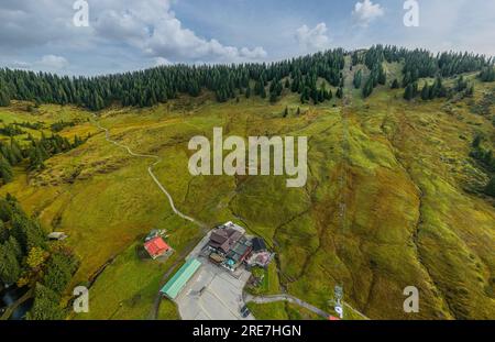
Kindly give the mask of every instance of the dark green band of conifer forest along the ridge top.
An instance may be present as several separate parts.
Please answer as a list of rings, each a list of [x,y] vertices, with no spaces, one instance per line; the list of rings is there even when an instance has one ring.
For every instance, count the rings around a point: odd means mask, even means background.
[[[370,77],[365,80],[362,75],[356,75],[354,79],[354,86],[362,87],[363,97],[387,81],[392,88],[398,88],[397,79],[386,79],[383,62],[404,62],[400,86],[405,88],[407,100],[417,96],[424,99],[447,96],[442,78],[462,73],[480,71],[480,79],[484,81],[495,77],[494,60],[483,55],[453,52],[435,55],[426,49],[376,45],[365,52],[338,48],[272,64],[173,65],[98,77],[68,77],[3,68],[0,69],[0,106],[8,106],[10,100],[29,100],[35,103],[70,103],[98,111],[114,103],[151,107],[182,93],[197,97],[204,90],[215,92],[219,102],[239,96],[258,96],[275,102],[284,88],[299,93],[302,103],[319,103],[333,97],[324,82],[318,82],[319,78],[338,88],[336,96],[342,97],[342,69],[346,55],[352,56],[353,65],[364,63],[370,69]],[[418,80],[425,77],[436,78],[437,81],[421,93],[422,85],[418,85]],[[464,90],[470,86],[461,88]]]

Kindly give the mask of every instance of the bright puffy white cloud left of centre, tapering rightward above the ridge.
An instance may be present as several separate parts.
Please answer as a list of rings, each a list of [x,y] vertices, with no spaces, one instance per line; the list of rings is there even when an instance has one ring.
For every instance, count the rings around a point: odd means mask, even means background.
[[[170,10],[169,0],[124,1],[111,10],[102,9],[95,21],[99,36],[119,40],[140,48],[152,57],[168,60],[206,59],[210,62],[244,62],[266,57],[263,47],[234,47],[207,40],[183,26]]]

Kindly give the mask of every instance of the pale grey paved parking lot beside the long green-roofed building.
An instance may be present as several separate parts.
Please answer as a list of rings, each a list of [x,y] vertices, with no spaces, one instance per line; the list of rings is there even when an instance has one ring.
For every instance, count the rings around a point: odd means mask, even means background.
[[[241,317],[242,289],[251,273],[242,269],[234,276],[229,271],[198,257],[201,267],[175,299],[185,320],[253,320]]]

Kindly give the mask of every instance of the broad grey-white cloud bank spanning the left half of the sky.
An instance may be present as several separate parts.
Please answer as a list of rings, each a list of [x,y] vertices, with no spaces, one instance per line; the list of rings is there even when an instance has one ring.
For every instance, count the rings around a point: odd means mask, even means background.
[[[2,0],[0,48],[65,47],[82,52],[107,45],[131,47],[147,58],[193,63],[249,62],[267,56],[263,47],[223,45],[184,27],[172,10],[173,0],[89,1],[89,27],[74,26],[75,11],[72,5],[61,5],[59,0],[43,0],[40,5],[31,2]]]

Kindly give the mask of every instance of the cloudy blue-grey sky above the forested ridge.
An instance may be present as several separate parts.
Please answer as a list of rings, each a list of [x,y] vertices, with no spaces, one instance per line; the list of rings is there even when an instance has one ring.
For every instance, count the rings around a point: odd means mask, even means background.
[[[411,1],[411,0],[408,0]],[[495,0],[1,0],[0,67],[98,75],[376,43],[495,56]],[[89,25],[76,26],[80,3]]]

